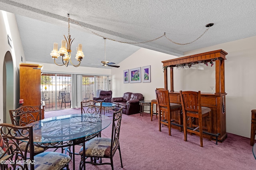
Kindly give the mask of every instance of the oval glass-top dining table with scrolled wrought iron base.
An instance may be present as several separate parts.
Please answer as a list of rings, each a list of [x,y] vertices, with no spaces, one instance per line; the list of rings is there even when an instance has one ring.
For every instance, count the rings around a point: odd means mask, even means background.
[[[108,116],[83,113],[50,117],[28,125],[33,126],[34,145],[43,148],[72,147],[74,151],[75,145],[81,143],[85,149],[85,141],[99,135],[110,123]],[[75,169],[75,154],[72,156]]]

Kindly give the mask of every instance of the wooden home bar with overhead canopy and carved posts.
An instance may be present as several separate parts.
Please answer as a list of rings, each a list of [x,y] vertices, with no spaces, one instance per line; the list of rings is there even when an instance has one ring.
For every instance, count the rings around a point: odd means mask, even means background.
[[[198,61],[215,62],[215,78],[216,84],[215,94],[201,92],[202,106],[209,107],[212,110],[212,133],[220,135],[218,141],[223,142],[227,138],[226,133],[226,92],[225,92],[225,72],[224,61],[226,53],[223,50],[209,51],[197,55],[180,57],[177,59],[162,61],[164,66],[164,89],[168,90],[168,68],[170,68],[170,102],[181,104],[180,92],[174,92],[173,68],[176,64],[190,64]]]

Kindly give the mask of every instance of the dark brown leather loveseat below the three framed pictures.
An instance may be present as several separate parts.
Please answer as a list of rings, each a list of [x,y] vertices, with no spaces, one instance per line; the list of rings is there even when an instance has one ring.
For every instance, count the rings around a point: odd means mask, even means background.
[[[142,94],[126,92],[123,97],[112,98],[112,103],[116,104],[116,111],[123,107],[123,113],[132,115],[140,113],[140,100],[144,100]]]

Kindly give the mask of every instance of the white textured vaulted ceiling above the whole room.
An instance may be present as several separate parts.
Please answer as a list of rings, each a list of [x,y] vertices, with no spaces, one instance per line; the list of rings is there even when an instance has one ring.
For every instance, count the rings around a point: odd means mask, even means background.
[[[106,60],[120,63],[140,47],[180,56],[186,51],[256,35],[255,0],[0,0],[0,10],[16,14],[27,61],[53,63],[53,43],[60,43],[70,24],[72,51],[82,43],[82,66],[104,60],[104,39],[148,43],[129,45],[106,40]],[[94,33],[98,34],[95,35]],[[40,49],[40,53],[38,52]],[[34,54],[37,54],[36,56]],[[73,56],[75,53],[73,52]],[[75,63],[75,61],[74,61]],[[112,67],[107,67],[112,68]]]

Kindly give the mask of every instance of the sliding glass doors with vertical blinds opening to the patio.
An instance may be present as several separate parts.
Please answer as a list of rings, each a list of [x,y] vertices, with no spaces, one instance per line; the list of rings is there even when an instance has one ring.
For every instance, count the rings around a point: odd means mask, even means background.
[[[72,81],[72,76],[75,82]],[[82,86],[82,89],[76,88],[78,86]],[[45,111],[70,108],[73,100],[77,103],[74,107],[80,107],[80,101],[93,100],[99,96],[100,90],[108,90],[108,76],[51,73],[41,75],[41,100],[45,103]]]

